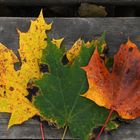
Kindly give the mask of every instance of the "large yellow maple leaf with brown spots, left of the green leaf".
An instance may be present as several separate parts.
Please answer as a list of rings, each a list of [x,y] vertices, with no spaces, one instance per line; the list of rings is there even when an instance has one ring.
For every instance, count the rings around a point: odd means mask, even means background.
[[[46,24],[42,11],[35,21],[31,21],[28,32],[19,33],[19,54],[22,66],[15,70],[14,64],[18,58],[4,45],[0,45],[0,112],[11,113],[8,127],[21,124],[36,114],[38,110],[26,98],[27,84],[30,79],[40,78],[39,62],[42,50],[47,46],[46,30],[51,24]],[[59,41],[60,42],[60,41]],[[56,41],[56,43],[58,43]]]

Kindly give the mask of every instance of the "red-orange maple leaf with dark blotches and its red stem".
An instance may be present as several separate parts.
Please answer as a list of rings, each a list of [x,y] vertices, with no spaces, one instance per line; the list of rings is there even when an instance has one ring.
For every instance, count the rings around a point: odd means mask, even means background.
[[[123,119],[140,117],[140,52],[134,43],[128,40],[121,45],[114,57],[111,73],[97,49],[83,69],[89,83],[89,89],[83,96],[99,106],[111,109],[105,124],[113,111],[117,111]]]

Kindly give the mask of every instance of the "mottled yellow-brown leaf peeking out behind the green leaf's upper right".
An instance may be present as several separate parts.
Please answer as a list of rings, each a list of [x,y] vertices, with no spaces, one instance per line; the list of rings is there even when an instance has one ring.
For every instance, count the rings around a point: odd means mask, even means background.
[[[70,48],[70,50],[67,51],[66,56],[70,63],[73,63],[74,59],[79,55],[83,43],[84,43],[83,40],[78,39]],[[106,48],[105,33],[103,33],[102,36],[99,37],[98,39],[92,40],[91,42],[90,41],[86,42],[85,46],[87,48],[91,46],[95,47],[98,46],[99,52],[103,53],[104,49]]]

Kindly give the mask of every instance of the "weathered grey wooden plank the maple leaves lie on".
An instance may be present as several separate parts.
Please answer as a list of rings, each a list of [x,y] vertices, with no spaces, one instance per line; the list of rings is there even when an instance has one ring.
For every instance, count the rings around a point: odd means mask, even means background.
[[[110,48],[109,54],[117,52],[119,45],[130,37],[140,47],[140,18],[51,18],[53,29],[49,35],[55,38],[65,37],[63,45],[67,48],[79,37],[91,40],[106,32],[106,40]],[[0,42],[17,52],[18,34],[16,28],[27,31],[30,18],[0,18]],[[29,120],[21,126],[7,131],[9,115],[0,113],[0,139],[40,139],[40,126],[36,120]],[[45,126],[47,139],[61,138],[62,130]],[[70,136],[68,135],[69,139]],[[124,124],[110,134],[102,135],[102,140],[139,140],[140,119]]]

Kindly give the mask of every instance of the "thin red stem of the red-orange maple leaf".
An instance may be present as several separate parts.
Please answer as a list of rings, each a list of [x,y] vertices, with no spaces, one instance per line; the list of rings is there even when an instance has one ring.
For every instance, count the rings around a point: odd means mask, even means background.
[[[101,130],[100,130],[100,132],[99,132],[99,134],[98,134],[98,136],[97,136],[97,138],[96,138],[96,140],[100,140],[100,136],[101,136],[101,134],[102,134],[104,128],[106,127],[108,121],[110,120],[110,118],[111,118],[113,112],[114,112],[114,110],[111,109],[110,112],[109,112],[109,115],[108,115],[108,117],[107,117],[107,119],[106,119],[106,121],[105,121],[105,123],[104,123],[104,125],[102,126],[102,128],[101,128]]]

